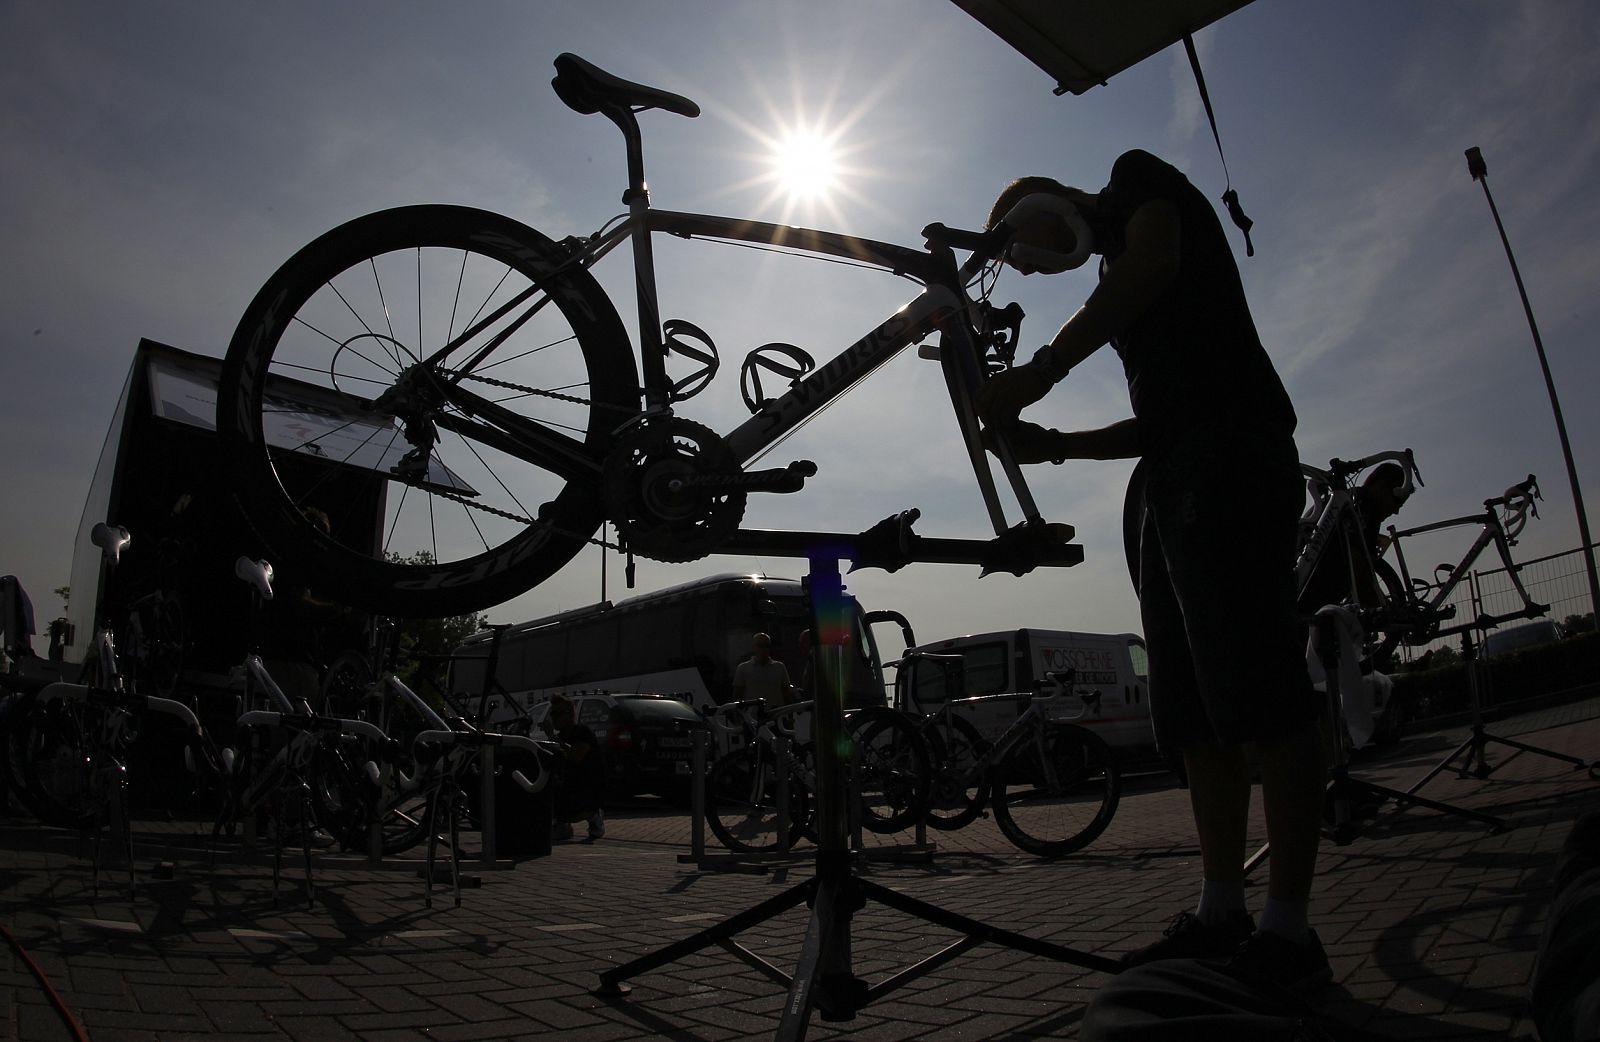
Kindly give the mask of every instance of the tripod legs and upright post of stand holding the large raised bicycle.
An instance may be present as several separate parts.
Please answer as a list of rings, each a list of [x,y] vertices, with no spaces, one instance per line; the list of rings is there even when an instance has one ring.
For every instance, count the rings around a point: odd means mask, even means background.
[[[624,996],[629,991],[622,984],[624,980],[717,944],[789,989],[789,999],[784,1002],[774,1037],[778,1042],[798,1042],[805,1037],[813,1007],[827,1021],[854,1020],[856,1013],[867,1004],[986,941],[1102,973],[1117,973],[1122,968],[1122,964],[1114,959],[990,927],[867,882],[854,874],[854,852],[846,842],[846,760],[842,749],[846,739],[840,701],[843,648],[854,616],[850,610],[853,602],[845,595],[838,573],[840,557],[842,554],[837,551],[810,555],[811,632],[816,634],[813,655],[816,656],[816,675],[821,680],[813,722],[818,775],[816,874],[715,927],[602,973],[600,986],[594,989],[595,996]],[[858,911],[866,908],[869,900],[960,933],[962,940],[877,984],[867,984],[851,972],[850,922]],[[794,975],[784,973],[733,940],[734,935],[768,922],[802,901],[811,906],[811,920]]]

